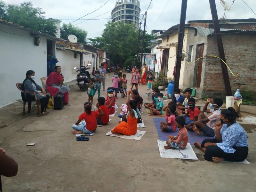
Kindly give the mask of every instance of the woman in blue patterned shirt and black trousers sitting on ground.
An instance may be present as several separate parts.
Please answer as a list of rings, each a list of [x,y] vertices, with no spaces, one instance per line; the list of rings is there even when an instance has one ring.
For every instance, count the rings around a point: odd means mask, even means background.
[[[195,146],[201,149],[204,159],[219,163],[221,161],[243,161],[248,155],[248,142],[244,128],[236,123],[239,117],[235,109],[229,107],[220,114],[220,122],[215,124],[215,139],[205,139],[200,145]]]

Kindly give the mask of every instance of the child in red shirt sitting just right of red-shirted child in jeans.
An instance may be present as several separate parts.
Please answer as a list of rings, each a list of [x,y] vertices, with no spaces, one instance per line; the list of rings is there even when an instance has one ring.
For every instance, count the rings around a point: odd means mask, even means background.
[[[96,104],[96,107],[98,108],[97,112],[100,112],[100,109],[103,111],[104,116],[101,116],[100,118],[97,118],[97,124],[98,125],[107,125],[109,122],[109,111],[105,104],[105,98],[99,97],[98,103]]]

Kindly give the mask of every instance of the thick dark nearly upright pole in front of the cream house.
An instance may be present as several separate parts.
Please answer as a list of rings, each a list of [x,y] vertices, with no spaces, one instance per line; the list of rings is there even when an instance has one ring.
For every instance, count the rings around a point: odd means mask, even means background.
[[[181,3],[180,25],[178,30],[178,33],[179,33],[178,34],[178,50],[176,55],[176,68],[175,68],[175,76],[174,76],[174,88],[179,88],[179,83],[180,83],[180,68],[181,68],[183,38],[184,38],[184,32],[185,32],[187,3],[188,3],[188,0],[182,0],[182,3]]]

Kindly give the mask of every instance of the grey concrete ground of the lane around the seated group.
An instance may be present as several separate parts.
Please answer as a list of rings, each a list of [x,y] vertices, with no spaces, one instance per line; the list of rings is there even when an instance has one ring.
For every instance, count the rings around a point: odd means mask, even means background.
[[[110,81],[106,80],[106,87]],[[139,92],[147,102],[146,85],[139,86]],[[199,160],[161,158],[153,118],[144,108],[146,128],[139,130],[146,133],[140,141],[105,135],[118,123],[117,115],[107,126],[98,127],[89,141],[76,141],[71,124],[83,112],[88,96],[78,88],[71,89],[69,96],[71,106],[47,116],[37,117],[34,110],[23,118],[19,103],[0,109],[0,147],[19,164],[17,176],[2,176],[4,191],[255,191],[255,131],[247,133],[251,164],[208,162],[194,146]],[[97,93],[94,99],[95,104]],[[125,99],[119,97],[116,103],[120,107]],[[250,123],[254,117],[248,118],[247,125],[255,124]],[[36,145],[27,147],[30,142]]]

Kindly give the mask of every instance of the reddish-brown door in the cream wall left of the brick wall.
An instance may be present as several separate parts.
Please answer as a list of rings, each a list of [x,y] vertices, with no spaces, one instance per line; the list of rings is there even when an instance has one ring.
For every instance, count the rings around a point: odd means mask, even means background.
[[[204,56],[204,44],[196,46],[196,59]],[[201,76],[202,76],[203,58],[196,61],[196,84],[195,86],[200,88]]]

